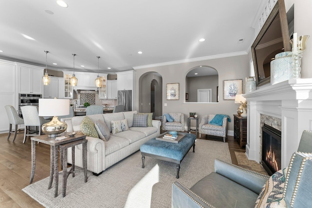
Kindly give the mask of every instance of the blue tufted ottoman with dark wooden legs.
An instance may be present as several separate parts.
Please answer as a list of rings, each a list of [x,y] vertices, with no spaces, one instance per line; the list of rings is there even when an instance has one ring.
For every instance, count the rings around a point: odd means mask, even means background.
[[[142,168],[144,168],[145,156],[150,156],[156,159],[174,162],[176,163],[176,178],[179,178],[180,163],[182,162],[185,155],[190,151],[192,146],[193,152],[195,152],[195,140],[196,140],[195,134],[180,133],[180,132],[179,134],[185,135],[179,141],[179,143],[159,141],[154,138],[142,144],[140,147],[140,151],[142,154]]]

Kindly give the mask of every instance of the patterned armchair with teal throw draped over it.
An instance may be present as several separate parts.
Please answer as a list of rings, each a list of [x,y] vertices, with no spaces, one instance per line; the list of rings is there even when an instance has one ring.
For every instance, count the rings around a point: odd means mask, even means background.
[[[216,114],[205,115],[198,127],[199,138],[201,134],[213,135],[213,136],[222,136],[223,142],[225,142],[225,137],[227,136],[227,123],[228,117],[223,117],[222,126],[213,125],[210,122],[213,120]]]

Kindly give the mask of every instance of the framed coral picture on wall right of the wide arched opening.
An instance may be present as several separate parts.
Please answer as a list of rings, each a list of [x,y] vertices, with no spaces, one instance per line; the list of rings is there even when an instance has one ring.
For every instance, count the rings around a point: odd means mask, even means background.
[[[234,100],[236,94],[242,94],[243,92],[243,80],[224,80],[223,83],[223,99],[224,100]]]

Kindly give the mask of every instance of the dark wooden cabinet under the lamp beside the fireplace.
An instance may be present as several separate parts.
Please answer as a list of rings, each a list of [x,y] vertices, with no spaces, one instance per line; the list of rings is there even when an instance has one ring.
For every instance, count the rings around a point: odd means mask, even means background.
[[[234,139],[242,148],[247,144],[247,118],[234,115]]]

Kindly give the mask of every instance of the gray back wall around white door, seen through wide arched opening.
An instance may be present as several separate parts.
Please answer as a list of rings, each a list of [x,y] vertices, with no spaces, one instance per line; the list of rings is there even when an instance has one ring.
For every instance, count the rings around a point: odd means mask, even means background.
[[[189,100],[197,102],[197,89],[212,89],[212,102],[216,102],[216,87],[218,86],[218,75],[187,77],[187,91]],[[219,97],[220,98],[220,97]]]

